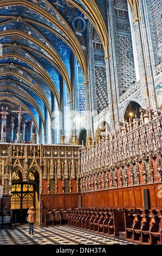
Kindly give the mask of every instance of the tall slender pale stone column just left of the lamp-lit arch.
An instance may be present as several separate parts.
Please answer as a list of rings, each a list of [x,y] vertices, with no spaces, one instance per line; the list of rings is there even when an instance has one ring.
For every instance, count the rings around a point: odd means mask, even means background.
[[[114,129],[118,129],[119,123],[119,110],[118,102],[120,95],[120,77],[118,76],[119,70],[119,57],[116,50],[116,31],[114,27],[115,13],[114,4],[112,1],[107,1],[107,22],[108,22],[108,36],[109,45],[105,49],[105,66],[106,66],[106,80],[107,80],[107,92],[108,92],[108,110],[109,117],[106,120],[111,127],[111,132]]]

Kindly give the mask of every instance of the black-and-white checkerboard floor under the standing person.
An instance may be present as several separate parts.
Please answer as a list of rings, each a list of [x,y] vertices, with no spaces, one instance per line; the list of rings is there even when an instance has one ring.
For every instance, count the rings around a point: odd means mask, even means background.
[[[16,229],[0,229],[0,245],[134,245],[133,242],[95,234],[69,225],[34,226],[29,235],[28,225]]]

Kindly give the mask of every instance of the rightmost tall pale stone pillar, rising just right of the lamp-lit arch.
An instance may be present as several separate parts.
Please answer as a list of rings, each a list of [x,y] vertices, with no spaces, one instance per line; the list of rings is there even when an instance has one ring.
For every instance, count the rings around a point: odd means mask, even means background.
[[[152,60],[150,58],[150,46],[148,42],[148,28],[145,17],[144,3],[133,0],[133,27],[137,46],[138,65],[140,74],[142,106],[144,108],[157,109],[155,97]]]

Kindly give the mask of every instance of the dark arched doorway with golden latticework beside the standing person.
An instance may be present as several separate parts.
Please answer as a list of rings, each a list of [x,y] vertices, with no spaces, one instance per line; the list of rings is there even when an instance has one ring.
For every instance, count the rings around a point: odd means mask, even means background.
[[[22,179],[20,169],[15,169],[12,172],[11,210],[13,224],[27,223],[25,216],[27,216],[28,209],[31,206],[34,206],[34,208],[37,206],[38,188],[39,175],[35,169],[28,172],[28,177],[25,181]]]

